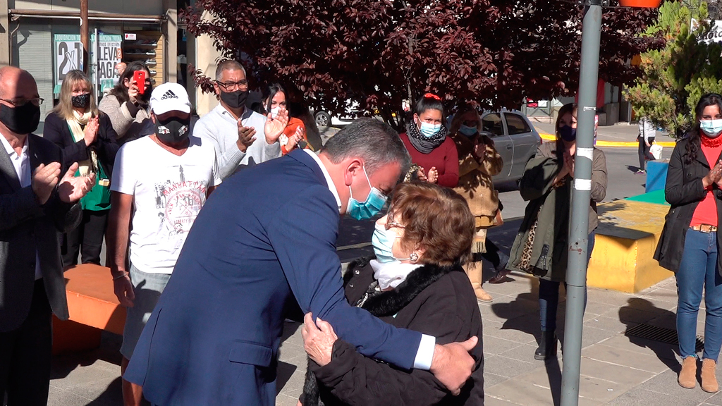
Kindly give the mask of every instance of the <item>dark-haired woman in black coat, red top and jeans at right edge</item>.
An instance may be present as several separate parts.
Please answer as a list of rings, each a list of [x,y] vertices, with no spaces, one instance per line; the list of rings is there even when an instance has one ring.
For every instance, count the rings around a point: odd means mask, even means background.
[[[697,313],[705,293],[705,350],[702,389],[717,392],[715,374],[722,345],[722,276],[718,219],[722,215],[722,96],[703,95],[697,124],[677,142],[669,159],[665,199],[671,207],[654,259],[677,277],[677,337],[682,371],[679,385],[697,382]]]

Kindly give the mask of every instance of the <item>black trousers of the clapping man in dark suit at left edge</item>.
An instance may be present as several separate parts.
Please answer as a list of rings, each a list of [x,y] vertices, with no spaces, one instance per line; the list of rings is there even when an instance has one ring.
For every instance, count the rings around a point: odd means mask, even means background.
[[[52,310],[43,280],[35,281],[27,319],[9,332],[0,332],[0,404],[48,404],[53,348]]]

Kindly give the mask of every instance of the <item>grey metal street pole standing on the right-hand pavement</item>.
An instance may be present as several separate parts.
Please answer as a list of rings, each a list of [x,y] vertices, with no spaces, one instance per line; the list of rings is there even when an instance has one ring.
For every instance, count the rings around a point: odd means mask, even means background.
[[[577,143],[574,161],[574,190],[569,228],[567,261],[567,313],[564,328],[564,366],[561,406],[579,402],[582,323],[586,293],[587,243],[591,168],[593,158],[596,85],[599,77],[601,0],[584,1],[582,54],[579,70]]]

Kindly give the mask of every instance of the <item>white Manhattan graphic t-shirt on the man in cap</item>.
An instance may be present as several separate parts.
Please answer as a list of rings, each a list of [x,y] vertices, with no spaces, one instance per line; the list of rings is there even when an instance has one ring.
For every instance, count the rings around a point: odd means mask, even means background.
[[[211,143],[190,140],[181,156],[151,137],[123,144],[116,155],[110,190],[133,195],[130,259],[142,272],[173,272],[208,188],[221,183]]]

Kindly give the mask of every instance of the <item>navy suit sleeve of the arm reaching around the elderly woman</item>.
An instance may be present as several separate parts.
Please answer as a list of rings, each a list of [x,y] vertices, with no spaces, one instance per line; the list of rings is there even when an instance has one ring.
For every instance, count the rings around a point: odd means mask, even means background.
[[[275,212],[267,237],[301,310],[331,323],[363,355],[411,369],[421,334],[396,329],[346,301],[336,255],[338,207],[329,189],[310,187]]]

